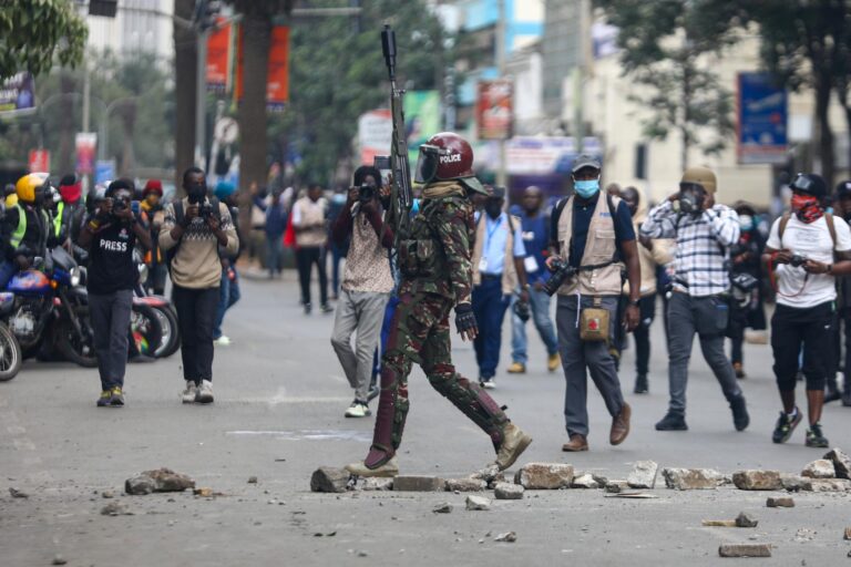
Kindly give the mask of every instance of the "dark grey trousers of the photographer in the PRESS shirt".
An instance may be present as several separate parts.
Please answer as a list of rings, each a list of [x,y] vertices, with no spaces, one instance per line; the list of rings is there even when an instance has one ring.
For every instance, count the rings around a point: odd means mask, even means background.
[[[98,371],[101,390],[124,386],[124,369],[127,365],[127,330],[133,307],[133,290],[122,289],[112,293],[89,293],[89,313],[94,332],[94,351],[98,353]]]

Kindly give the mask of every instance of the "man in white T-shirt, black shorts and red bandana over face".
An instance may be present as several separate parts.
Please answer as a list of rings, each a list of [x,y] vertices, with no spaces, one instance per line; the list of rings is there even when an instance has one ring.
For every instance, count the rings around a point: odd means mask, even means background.
[[[777,309],[771,318],[771,350],[775,375],[783,411],[772,440],[786,443],[802,415],[794,404],[796,374],[803,349],[807,405],[810,427],[808,447],[827,447],[821,430],[824,382],[832,364],[831,329],[837,299],[835,276],[851,274],[851,230],[843,220],[824,212],[824,179],[799,174],[792,182],[791,214],[775,220],[762,261],[772,285],[777,284]]]

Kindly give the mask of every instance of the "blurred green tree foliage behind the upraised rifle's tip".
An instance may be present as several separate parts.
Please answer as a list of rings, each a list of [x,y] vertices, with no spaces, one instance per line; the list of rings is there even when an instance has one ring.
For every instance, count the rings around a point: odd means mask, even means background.
[[[293,23],[290,103],[284,113],[270,116],[269,135],[279,153],[287,144],[295,146],[301,156],[297,173],[303,178],[331,182],[338,163],[351,156],[358,117],[388,107],[387,68],[379,35],[383,22],[396,30],[399,84],[409,90],[441,87],[435,84],[435,52],[441,49],[443,32],[426,3],[361,3],[359,32],[352,18]],[[322,6],[348,7],[349,2],[336,0]],[[276,155],[275,159],[281,157]]]

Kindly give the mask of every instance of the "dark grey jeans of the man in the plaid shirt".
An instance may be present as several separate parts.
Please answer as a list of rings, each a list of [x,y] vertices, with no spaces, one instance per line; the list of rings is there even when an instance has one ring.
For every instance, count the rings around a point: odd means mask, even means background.
[[[686,413],[686,384],[688,360],[695,333],[700,338],[700,350],[715,378],[729,401],[741,395],[732,363],[724,353],[724,332],[727,329],[729,307],[717,296],[691,297],[674,292],[668,302],[668,411]]]

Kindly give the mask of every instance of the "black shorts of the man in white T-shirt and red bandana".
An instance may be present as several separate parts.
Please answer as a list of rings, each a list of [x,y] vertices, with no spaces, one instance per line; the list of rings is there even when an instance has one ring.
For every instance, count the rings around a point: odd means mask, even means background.
[[[777,306],[771,318],[771,350],[775,353],[777,386],[781,392],[794,390],[801,347],[801,371],[807,379],[807,390],[824,390],[828,371],[832,368],[833,315],[833,301],[804,309]]]

